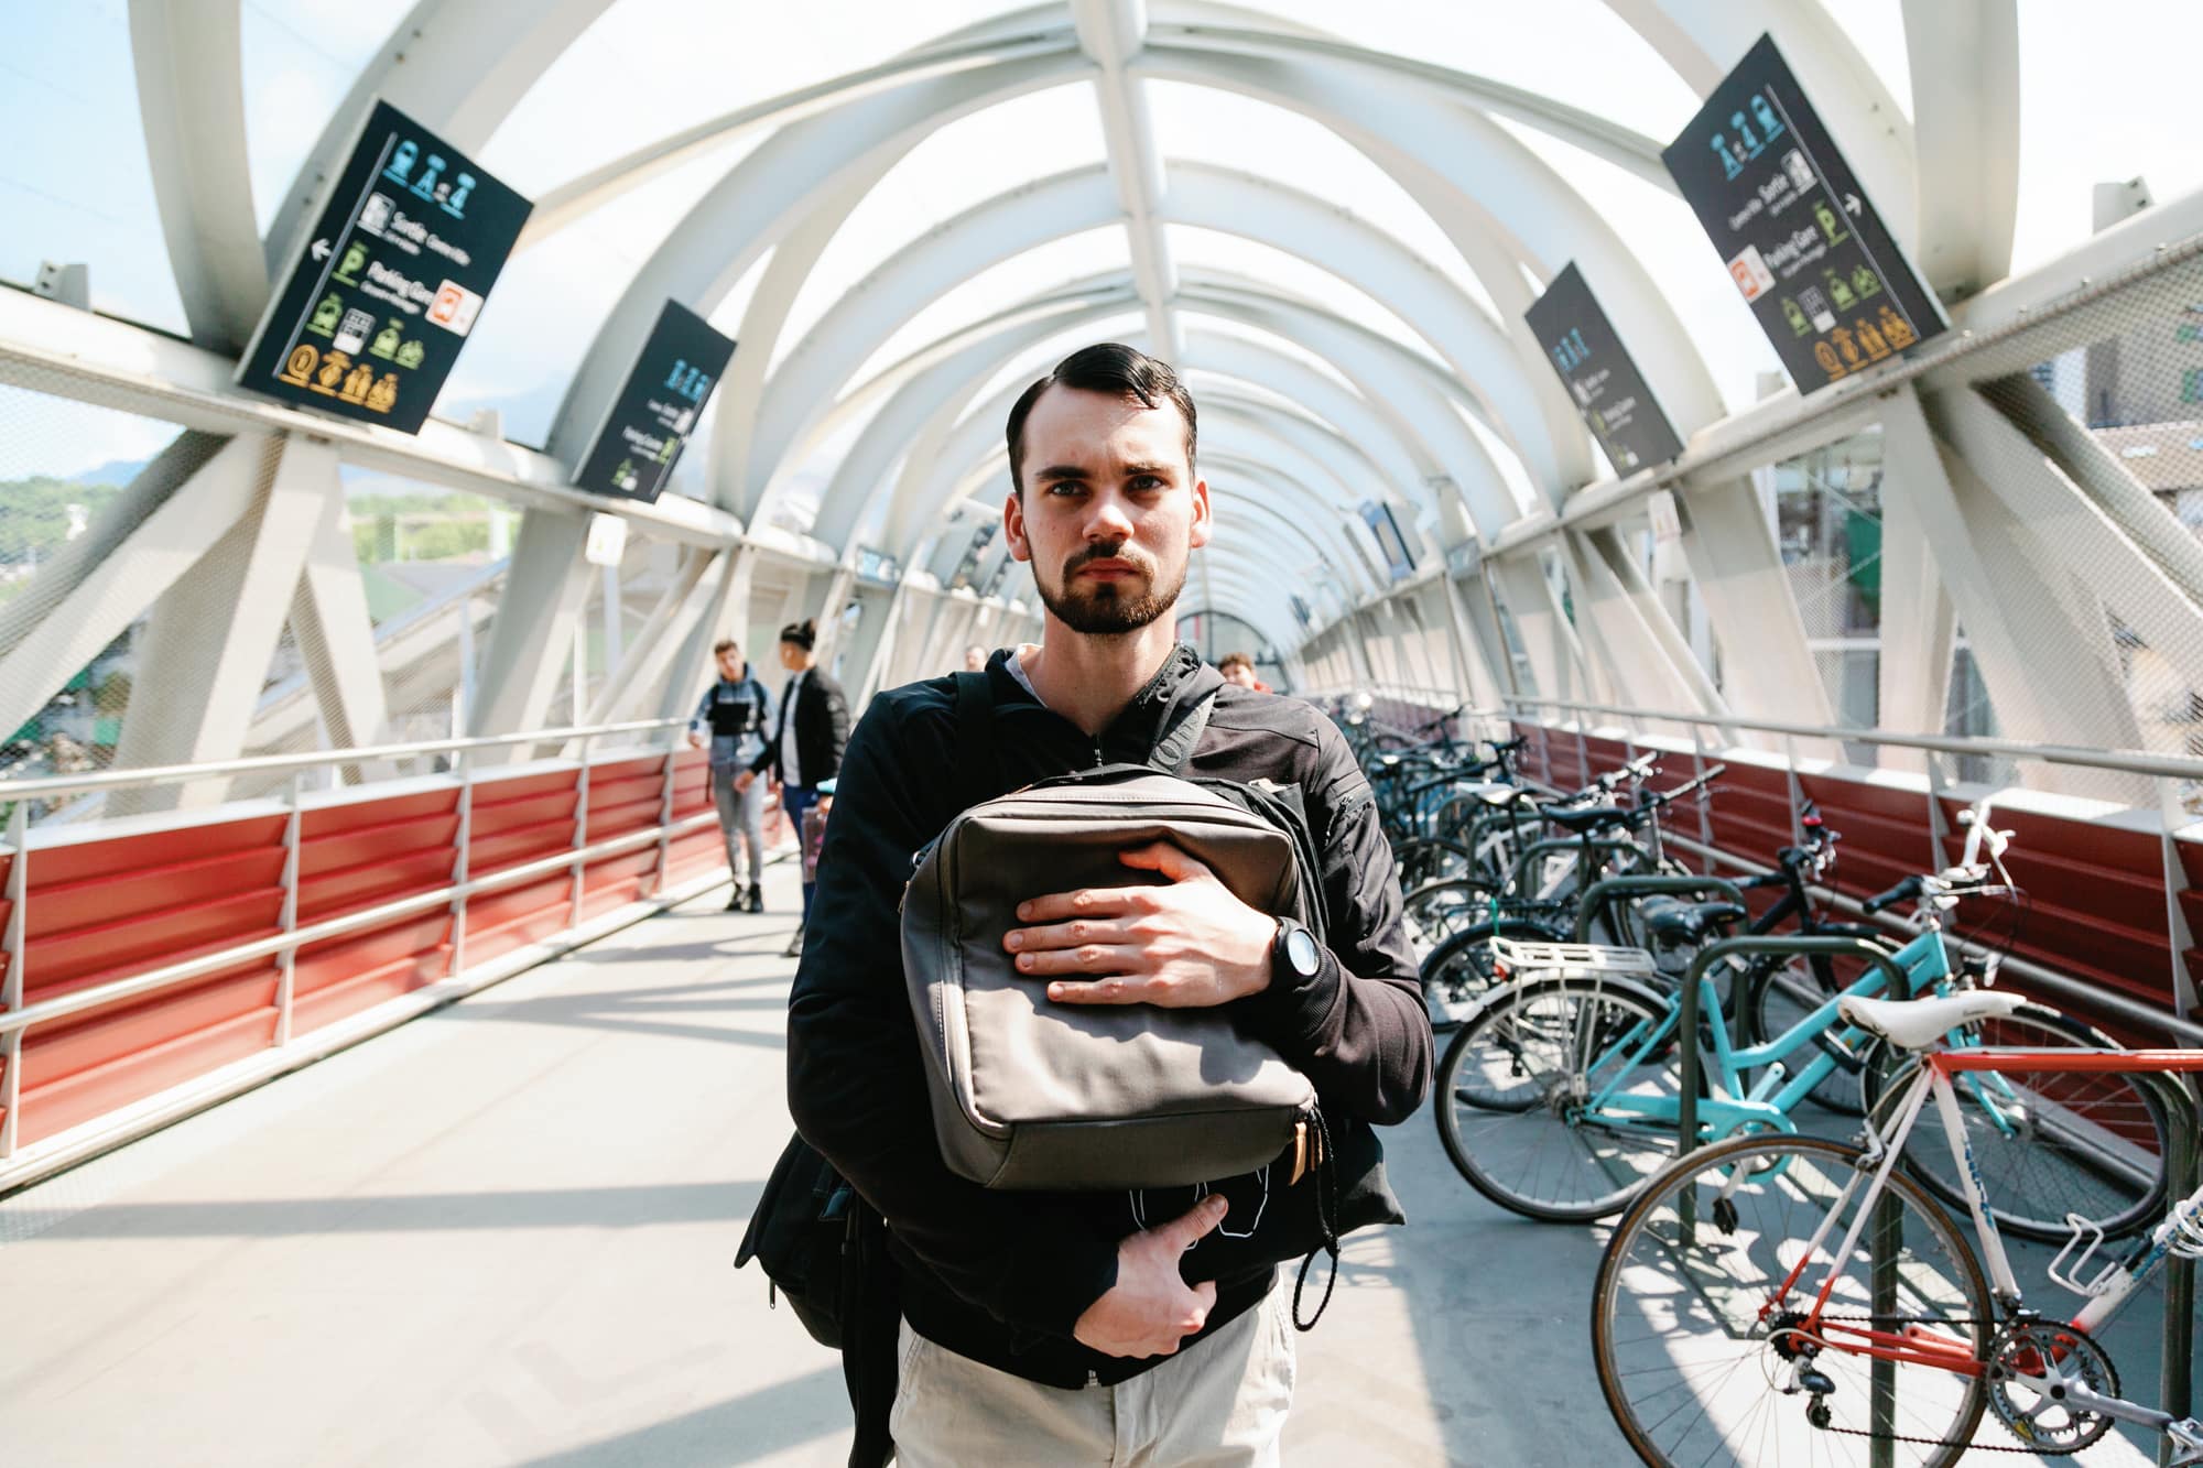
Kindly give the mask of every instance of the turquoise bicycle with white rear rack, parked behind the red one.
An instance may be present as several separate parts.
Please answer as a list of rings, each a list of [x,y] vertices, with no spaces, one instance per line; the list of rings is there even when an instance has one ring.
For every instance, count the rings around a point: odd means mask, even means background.
[[[2003,851],[2009,833],[1987,827],[1987,802],[1965,813],[1972,822],[1965,862],[1934,877],[1908,877],[1875,904],[1921,897],[1921,932],[1895,954],[1864,941],[1851,950],[1870,968],[1840,994],[1824,999],[1782,1034],[1758,1045],[1734,1045],[1721,996],[1707,972],[1718,950],[1692,965],[1683,985],[1661,985],[1652,954],[1591,943],[1509,943],[1494,952],[1513,974],[1529,974],[1496,990],[1461,1023],[1439,1062],[1439,1140],[1461,1175],[1487,1199],[1540,1221],[1584,1223],[1621,1212],[1646,1179],[1679,1151],[1683,1082],[1676,1036],[1687,1023],[1683,992],[1696,990],[1696,1045],[1707,1051],[1692,1089],[1692,1142],[1736,1133],[1798,1133],[1791,1113],[1840,1067],[1866,1069],[1873,1036],[1840,1018],[1848,999],[1892,992],[1952,994],[1992,981],[1989,968],[1952,968],[1943,946],[1943,913],[1967,895],[2009,893]],[[1980,853],[1987,844],[1989,860]],[[1875,906],[1870,904],[1870,906]],[[1736,939],[1738,946],[1756,939]],[[1842,939],[1776,939],[1835,950]],[[1732,948],[1734,952],[1734,948]],[[1558,972],[1555,972],[1558,970]],[[2047,1007],[2016,1003],[2000,1023],[2031,1010],[2055,1016],[2040,1034],[2069,1038],[2077,1025]],[[1950,1043],[1978,1049],[1983,1018],[1954,1025]],[[2108,1047],[2108,1040],[2086,1032]],[[1791,1067],[1798,1067],[1791,1071]],[[1868,1071],[1875,1076],[1877,1071]],[[1888,1076],[1888,1067],[1881,1067]],[[1873,1102],[1879,1095],[1868,1095]],[[2163,1111],[2135,1087],[2106,1087],[2073,1095],[2055,1118],[2029,1109],[2007,1082],[1983,1076],[1967,1084],[1967,1124],[1998,1179],[2018,1197],[2005,1215],[2016,1232],[2053,1237],[2069,1212],[2095,1219],[2106,1232],[2137,1226],[2163,1188],[2163,1153],[2137,1146],[2128,1168],[2082,1186],[2051,1173],[2042,1157],[2069,1159],[2084,1142],[2121,1129],[2161,1137]],[[1963,1179],[1930,1173],[1934,1190]]]

